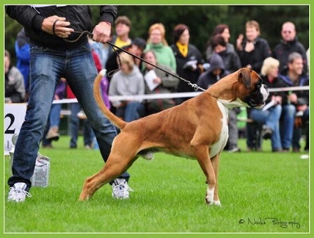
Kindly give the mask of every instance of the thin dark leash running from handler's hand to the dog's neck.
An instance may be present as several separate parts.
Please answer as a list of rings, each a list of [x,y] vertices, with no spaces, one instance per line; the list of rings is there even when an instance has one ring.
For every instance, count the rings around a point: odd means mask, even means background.
[[[77,38],[76,38],[75,40],[67,40],[66,38],[63,38],[63,40],[65,40],[66,42],[73,43],[73,42],[76,42],[77,40],[79,40],[83,35],[89,35],[89,36],[91,36],[91,37],[93,37],[93,35],[94,35],[93,33],[90,33],[89,31],[82,31],[82,32],[81,32],[81,31],[73,31],[73,33],[80,33],[80,35],[77,36]],[[120,64],[118,70],[113,70],[112,72],[109,72],[109,73],[108,73],[108,75],[110,74],[110,77],[111,77],[115,72],[119,71],[120,68],[121,68],[120,56],[119,56],[117,50],[115,49],[115,48],[117,48],[117,49],[119,49],[119,50],[121,50],[121,51],[124,51],[126,54],[129,54],[130,56],[133,56],[133,57],[139,59],[140,61],[143,61],[144,63],[148,63],[149,65],[151,65],[151,66],[157,68],[158,70],[161,70],[161,71],[163,71],[163,72],[165,72],[165,73],[167,73],[167,74],[170,74],[172,77],[175,77],[175,78],[177,78],[177,79],[180,79],[180,80],[182,80],[182,81],[185,81],[186,84],[188,84],[189,86],[191,86],[195,91],[197,91],[197,90],[202,90],[202,91],[206,92],[206,90],[204,90],[204,88],[201,88],[200,86],[197,86],[197,84],[192,84],[190,81],[188,81],[188,80],[186,80],[186,79],[184,79],[184,78],[182,78],[182,77],[179,77],[179,76],[177,76],[176,74],[172,74],[171,72],[168,72],[167,70],[164,70],[163,68],[160,68],[160,67],[158,67],[157,65],[154,65],[154,64],[152,64],[152,63],[149,63],[148,61],[145,61],[144,58],[141,58],[141,57],[139,57],[139,56],[136,56],[135,54],[130,53],[130,52],[127,51],[126,49],[122,49],[121,47],[118,47],[117,45],[112,44],[112,42],[110,42],[110,41],[107,41],[107,44],[108,44],[108,45],[111,45],[112,48],[114,49],[114,52],[117,54],[117,56],[118,56],[118,58],[119,58],[119,64]]]

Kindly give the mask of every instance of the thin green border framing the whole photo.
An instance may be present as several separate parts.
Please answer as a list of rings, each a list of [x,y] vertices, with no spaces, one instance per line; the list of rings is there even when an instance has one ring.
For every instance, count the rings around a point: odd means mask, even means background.
[[[22,1],[22,0],[4,0],[1,1],[2,3],[2,7],[0,9],[0,13],[1,13],[1,17],[2,17],[2,24],[0,26],[0,31],[1,31],[1,38],[3,39],[3,46],[1,47],[0,51],[1,54],[3,55],[4,52],[4,14],[5,14],[5,10],[4,10],[4,6],[6,4],[27,4],[27,3],[41,3],[41,4],[48,4],[48,3],[60,3],[60,4],[82,4],[84,3],[84,1],[73,1],[73,0],[54,0],[54,1],[38,1],[38,0],[33,0],[33,1]],[[311,25],[312,25],[312,18],[311,18],[311,13],[313,12],[313,4],[311,5],[310,1],[303,1],[303,0],[292,0],[292,1],[283,1],[283,0],[254,0],[254,1],[247,1],[247,0],[241,0],[241,1],[234,1],[234,0],[223,0],[223,1],[205,1],[205,0],[158,0],[158,1],[143,1],[143,0],[121,0],[121,1],[112,1],[112,0],[107,0],[107,1],[100,1],[100,0],[89,0],[89,1],[85,1],[88,2],[88,4],[119,4],[119,5],[128,5],[128,4],[137,4],[137,5],[147,5],[147,4],[151,4],[151,5],[165,5],[165,4],[175,4],[175,5],[205,5],[205,4],[215,4],[215,5],[252,5],[252,4],[259,4],[259,5],[271,5],[271,4],[282,4],[283,7],[285,4],[306,4],[310,6],[310,29],[311,29]],[[312,33],[310,31],[310,41],[309,41],[309,45],[310,48],[313,47],[313,38],[312,38]],[[313,56],[313,52],[311,52],[311,57]],[[3,58],[1,57],[0,59],[1,62],[1,75],[4,74],[4,70],[3,70]],[[310,66],[311,68],[311,66]],[[310,71],[311,72],[311,71]],[[311,76],[311,75],[310,75]],[[314,79],[311,79],[311,81],[313,81]],[[310,84],[311,86],[311,84]],[[313,105],[313,93],[310,93],[311,95],[311,105]],[[1,84],[1,111],[4,112],[4,80],[3,83]],[[311,110],[310,110],[311,111]],[[311,113],[311,112],[310,112]],[[3,113],[4,114],[4,113]],[[311,113],[312,115],[312,113]],[[313,128],[311,127],[311,122],[313,122],[313,117],[310,115],[310,141],[312,141],[313,139]],[[1,122],[2,125],[4,124],[4,118],[1,118]],[[2,126],[2,128],[4,127],[4,125]],[[1,144],[3,145],[3,135],[4,135],[4,130],[2,132],[2,136],[1,137]],[[313,143],[312,143],[313,144]],[[311,143],[310,143],[311,145]],[[4,154],[3,152],[3,148],[1,149],[2,154]],[[311,150],[310,150],[311,152]],[[310,153],[310,169],[313,170],[313,163],[311,163],[311,154]],[[1,203],[1,214],[2,216],[0,216],[0,223],[1,223],[1,231],[0,231],[0,235],[1,237],[40,237],[40,238],[45,238],[45,237],[75,237],[75,238],[80,238],[80,237],[252,237],[253,235],[257,235],[258,237],[291,237],[291,236],[297,236],[297,237],[310,237],[311,236],[311,232],[313,231],[313,206],[311,206],[310,204],[310,234],[254,234],[254,233],[249,233],[249,234],[229,234],[229,233],[225,233],[225,234],[79,234],[79,235],[75,235],[75,234],[4,234],[4,200],[6,199],[6,194],[7,194],[7,185],[6,185],[6,180],[4,177],[4,156],[3,156],[3,163],[2,163],[2,169],[1,169],[1,177],[2,177],[2,182],[1,182],[1,191],[2,191],[2,196],[0,198],[0,203]],[[313,201],[313,189],[312,189],[312,181],[313,181],[313,174],[310,173],[310,203],[312,203]],[[18,211],[17,211],[18,212]],[[311,219],[312,218],[312,219]]]

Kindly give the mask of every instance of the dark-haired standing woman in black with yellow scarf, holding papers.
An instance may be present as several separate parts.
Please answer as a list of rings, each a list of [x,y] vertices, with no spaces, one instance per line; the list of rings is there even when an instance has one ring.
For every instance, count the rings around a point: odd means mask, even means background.
[[[173,36],[174,44],[171,45],[171,48],[177,61],[177,74],[179,77],[188,79],[192,84],[196,84],[198,77],[204,72],[202,54],[189,43],[190,29],[185,24],[175,26]],[[177,91],[179,93],[193,92],[194,89],[185,81],[179,81]],[[177,104],[181,104],[185,100],[188,100],[188,97],[179,98]]]

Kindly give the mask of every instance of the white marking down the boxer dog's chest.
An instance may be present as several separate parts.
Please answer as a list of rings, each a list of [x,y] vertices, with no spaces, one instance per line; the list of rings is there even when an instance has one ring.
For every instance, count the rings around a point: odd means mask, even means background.
[[[221,113],[223,113],[223,118],[221,119],[223,122],[223,127],[221,128],[221,134],[219,140],[211,145],[211,154],[209,154],[210,157],[214,157],[218,152],[223,150],[227,143],[227,139],[229,137],[229,130],[227,125],[227,119],[229,115],[229,109],[225,107],[221,102],[217,101],[217,104],[219,106],[219,109]]]

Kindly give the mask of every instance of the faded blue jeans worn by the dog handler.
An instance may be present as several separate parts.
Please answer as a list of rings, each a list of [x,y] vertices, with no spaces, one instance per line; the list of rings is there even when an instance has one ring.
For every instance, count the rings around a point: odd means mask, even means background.
[[[93,84],[96,75],[88,42],[66,51],[31,45],[29,102],[15,146],[13,176],[8,179],[10,187],[15,182],[24,182],[27,190],[31,188],[30,178],[35,168],[37,152],[52,106],[54,90],[61,77],[66,78],[82,105],[94,129],[100,153],[104,161],[107,160],[117,130],[100,112],[94,99]],[[75,157],[64,159],[74,161]],[[128,180],[129,175],[124,173],[121,177]]]

